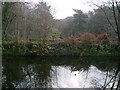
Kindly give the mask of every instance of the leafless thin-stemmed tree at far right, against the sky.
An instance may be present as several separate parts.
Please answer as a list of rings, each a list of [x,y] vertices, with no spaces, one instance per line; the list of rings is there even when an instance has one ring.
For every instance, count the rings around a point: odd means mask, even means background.
[[[97,6],[98,9],[102,11],[105,19],[107,20],[107,23],[109,24],[107,27],[112,28],[112,30],[117,36],[118,41],[120,41],[120,28],[119,28],[120,2],[117,0],[111,0],[107,2],[107,4],[106,3],[102,3],[102,5],[97,5],[94,3],[92,4]],[[105,9],[106,7],[108,8],[108,10]],[[108,11],[110,13],[108,13]],[[112,17],[110,17],[110,15],[112,15]],[[111,30],[109,28],[107,31]]]

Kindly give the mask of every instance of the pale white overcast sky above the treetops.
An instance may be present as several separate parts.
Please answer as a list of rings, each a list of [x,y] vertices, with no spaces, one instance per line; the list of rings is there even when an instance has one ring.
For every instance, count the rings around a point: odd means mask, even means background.
[[[39,2],[41,0],[31,0]],[[94,7],[89,6],[88,2],[99,3],[108,0],[43,0],[52,6],[52,14],[54,18],[63,19],[74,14],[73,9],[80,9],[83,12],[93,10]]]

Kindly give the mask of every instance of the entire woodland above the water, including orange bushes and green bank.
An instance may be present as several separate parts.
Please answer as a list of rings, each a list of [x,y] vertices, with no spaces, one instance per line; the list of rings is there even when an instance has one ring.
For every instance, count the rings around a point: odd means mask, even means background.
[[[2,2],[3,55],[119,56],[120,2],[97,5],[94,11],[55,19],[51,6],[39,2]]]

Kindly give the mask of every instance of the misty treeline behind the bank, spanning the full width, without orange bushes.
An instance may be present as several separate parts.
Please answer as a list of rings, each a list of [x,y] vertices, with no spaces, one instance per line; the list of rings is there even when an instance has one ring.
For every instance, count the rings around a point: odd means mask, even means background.
[[[64,2],[63,2],[64,3]],[[116,5],[115,5],[116,4]],[[84,33],[108,33],[112,40],[120,36],[119,3],[98,6],[84,13],[73,9],[75,14],[65,19],[54,19],[51,6],[46,2],[32,5],[28,2],[2,3],[3,41],[46,41],[61,40]]]

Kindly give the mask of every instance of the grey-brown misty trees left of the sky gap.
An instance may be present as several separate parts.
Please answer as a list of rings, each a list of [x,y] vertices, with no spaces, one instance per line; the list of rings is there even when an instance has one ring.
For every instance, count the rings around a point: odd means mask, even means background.
[[[50,6],[40,2],[33,8],[26,2],[3,2],[4,41],[45,41],[53,26]]]

